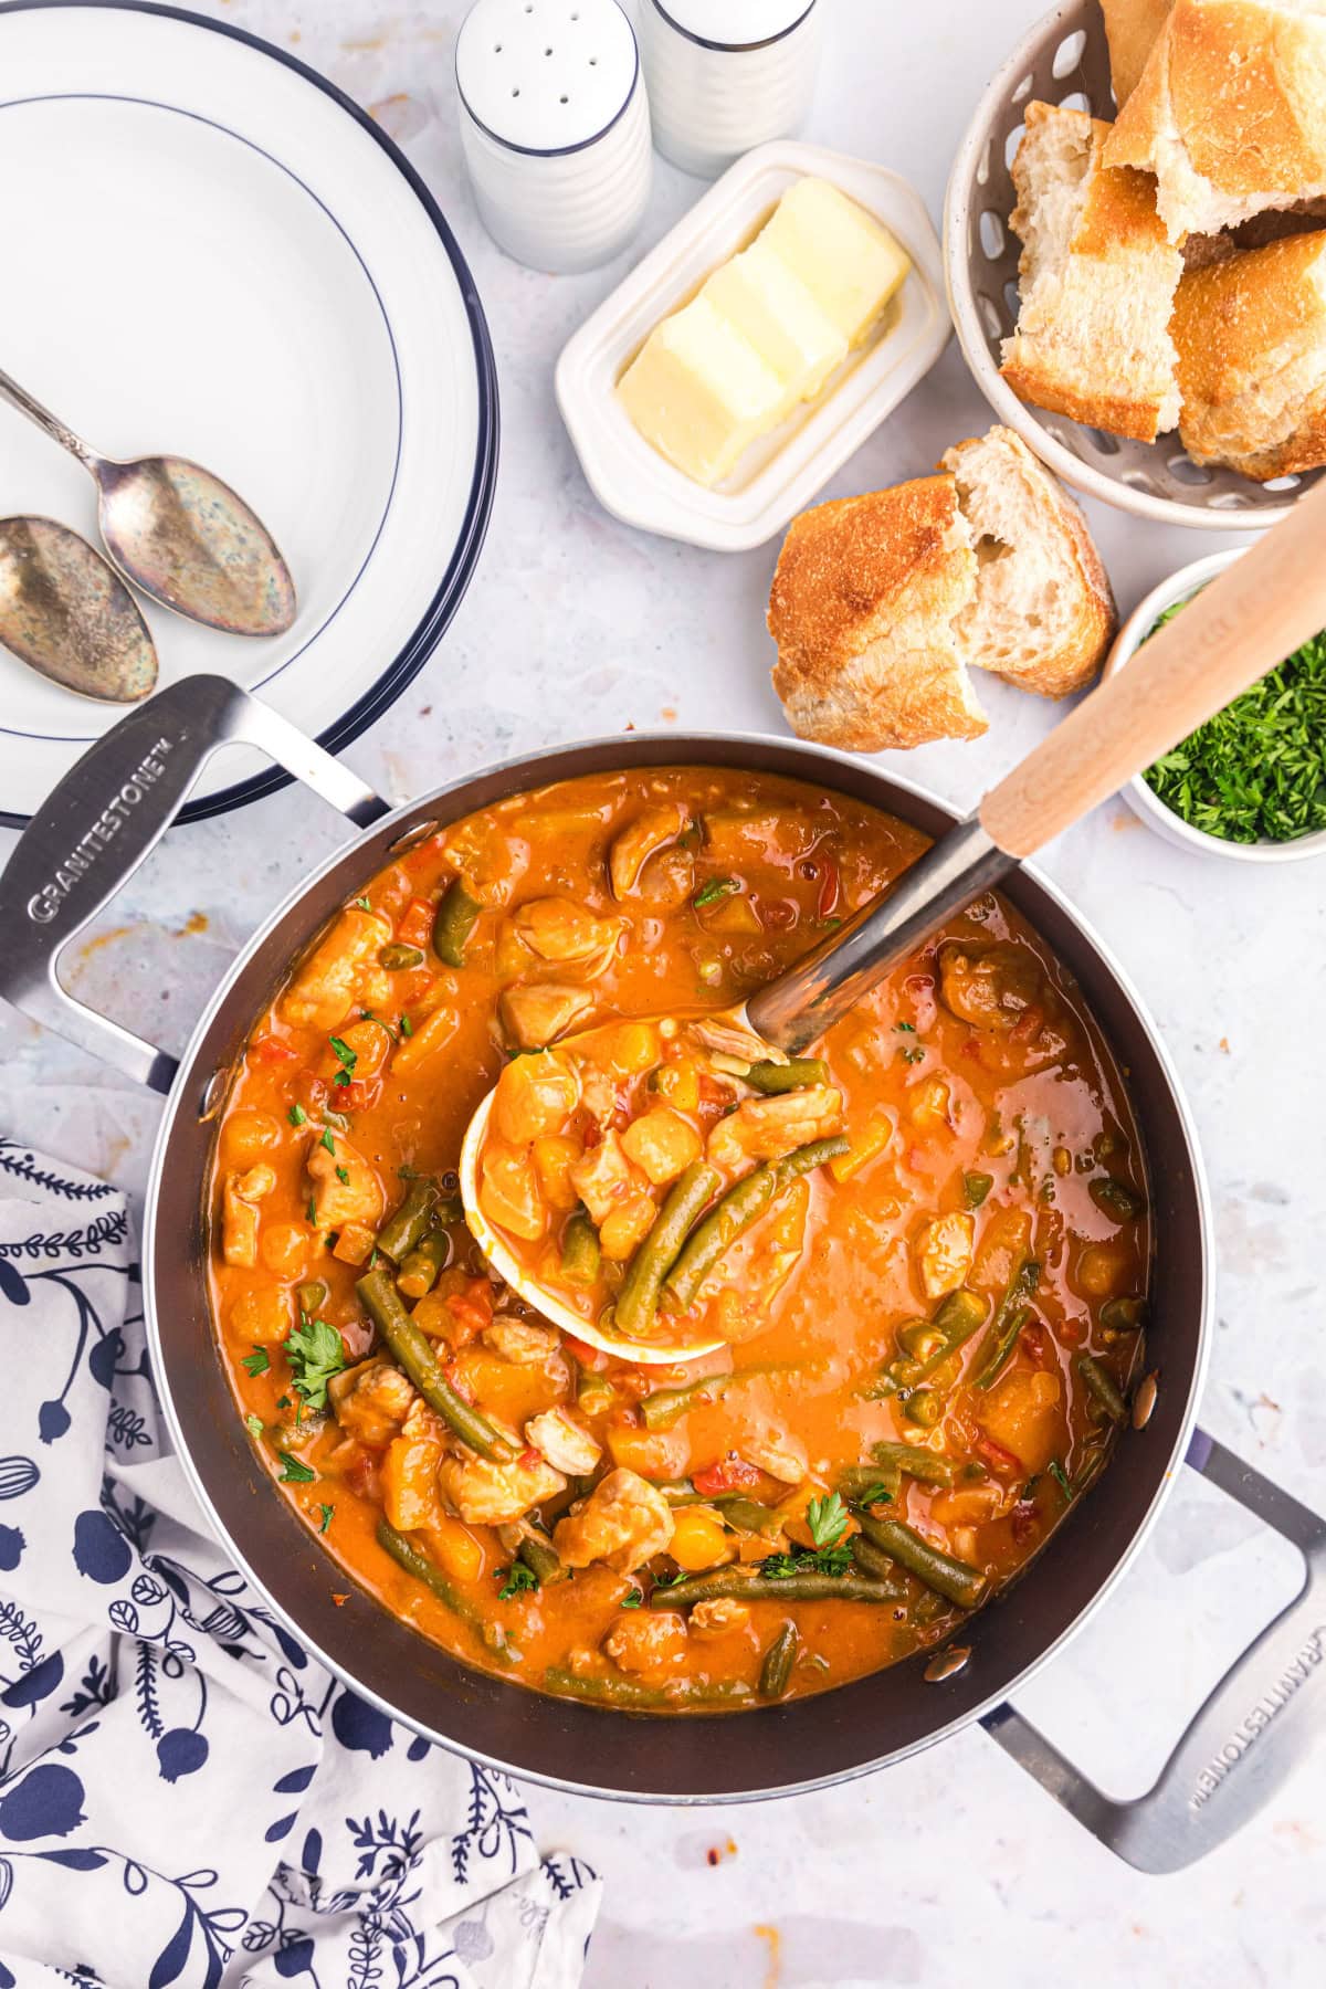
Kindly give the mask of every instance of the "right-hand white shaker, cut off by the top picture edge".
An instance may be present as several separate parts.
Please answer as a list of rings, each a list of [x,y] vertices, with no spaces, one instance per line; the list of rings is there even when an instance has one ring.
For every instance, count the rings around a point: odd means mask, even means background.
[[[819,68],[815,0],[636,0],[654,143],[714,179],[805,119]]]

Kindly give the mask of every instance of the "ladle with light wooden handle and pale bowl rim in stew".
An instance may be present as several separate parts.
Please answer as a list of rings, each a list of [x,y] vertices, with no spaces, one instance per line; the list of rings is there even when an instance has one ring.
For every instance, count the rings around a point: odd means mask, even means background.
[[[936,927],[1324,627],[1326,483],[1157,629],[1125,670],[1083,698],[986,794],[974,815],[940,835],[897,883],[751,994],[746,1024],[775,1050],[809,1048]],[[600,1028],[602,1018],[594,1026]],[[559,1048],[573,1044],[569,1036]],[[680,1347],[604,1333],[519,1265],[479,1205],[479,1154],[491,1108],[489,1092],[469,1122],[459,1174],[465,1219],[499,1277],[553,1325],[620,1358],[672,1364],[724,1347],[714,1337]]]

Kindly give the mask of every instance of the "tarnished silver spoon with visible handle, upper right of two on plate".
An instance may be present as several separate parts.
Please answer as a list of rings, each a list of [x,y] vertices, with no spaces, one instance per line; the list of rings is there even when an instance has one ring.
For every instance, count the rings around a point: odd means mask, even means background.
[[[131,463],[97,455],[6,372],[0,398],[95,479],[101,537],[127,581],[177,615],[229,634],[280,634],[290,627],[290,569],[262,519],[229,483],[183,455]]]

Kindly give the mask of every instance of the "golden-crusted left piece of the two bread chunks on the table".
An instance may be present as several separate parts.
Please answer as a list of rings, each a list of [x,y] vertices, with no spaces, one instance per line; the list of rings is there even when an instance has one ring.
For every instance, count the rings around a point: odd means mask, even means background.
[[[950,475],[793,519],[767,615],[793,732],[849,752],[980,738],[986,718],[952,631],[974,583]]]

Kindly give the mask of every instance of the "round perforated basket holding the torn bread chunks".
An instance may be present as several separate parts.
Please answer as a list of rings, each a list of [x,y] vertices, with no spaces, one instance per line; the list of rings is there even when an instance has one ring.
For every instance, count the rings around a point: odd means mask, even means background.
[[[1165,525],[1254,531],[1274,525],[1320,475],[1252,483],[1233,469],[1205,469],[1179,444],[1129,442],[1028,408],[1000,380],[1000,342],[1018,316],[1018,237],[1010,161],[1032,99],[1113,117],[1109,50],[1097,0],[1046,14],[994,76],[962,139],[944,197],[944,280],[958,342],[1000,422],[1016,430],[1058,475],[1089,497]]]

